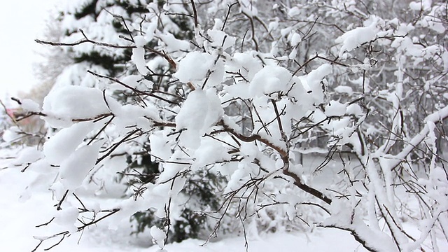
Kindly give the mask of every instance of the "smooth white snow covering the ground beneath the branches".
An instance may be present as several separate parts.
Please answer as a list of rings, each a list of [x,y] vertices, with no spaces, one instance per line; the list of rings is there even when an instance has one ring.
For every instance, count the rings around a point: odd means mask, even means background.
[[[1,157],[5,157],[0,151]],[[4,161],[4,160],[3,160]],[[36,225],[50,220],[55,211],[52,207],[51,193],[45,188],[42,181],[50,181],[52,178],[39,177],[31,171],[21,173],[15,167],[4,168],[0,160],[0,251],[23,252],[32,251],[38,244],[33,236],[52,235],[57,230],[57,225],[48,225],[35,228]],[[48,175],[49,176],[49,175]],[[33,181],[38,181],[32,192],[27,186]],[[32,194],[32,195],[29,195]],[[29,197],[31,196],[31,197]],[[28,199],[27,199],[28,198]],[[113,199],[99,199],[102,202]],[[83,234],[75,233],[67,237],[61,244],[50,251],[53,252],[155,252],[160,248],[151,246],[149,235],[130,235],[130,224],[120,224],[118,230],[109,230],[105,219],[96,227],[86,230]],[[57,239],[55,240],[57,242]],[[188,239],[179,244],[168,244],[165,249],[169,252],[243,252],[244,237],[226,237],[219,241],[210,242],[206,246],[203,240]],[[43,251],[52,243],[43,244],[37,251]],[[311,234],[304,233],[276,233],[260,235],[260,237],[248,238],[248,251],[365,251],[354,241],[348,233],[340,230],[318,229]]]

